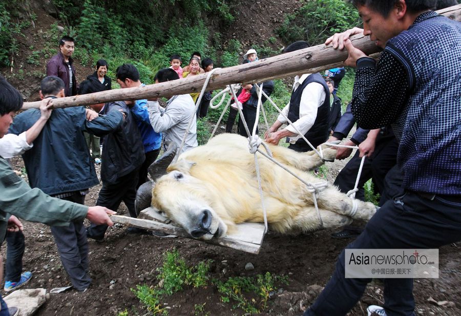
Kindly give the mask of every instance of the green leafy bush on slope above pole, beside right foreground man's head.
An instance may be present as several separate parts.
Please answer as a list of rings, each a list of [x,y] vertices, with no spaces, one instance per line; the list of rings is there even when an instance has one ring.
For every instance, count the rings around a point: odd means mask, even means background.
[[[357,10],[344,0],[305,0],[297,12],[285,16],[277,32],[286,43],[306,40],[318,45],[333,33],[360,23]]]

